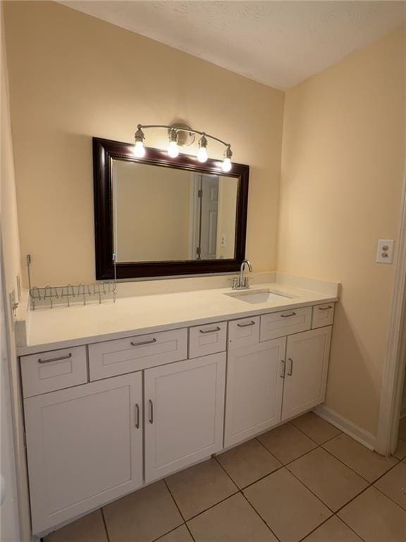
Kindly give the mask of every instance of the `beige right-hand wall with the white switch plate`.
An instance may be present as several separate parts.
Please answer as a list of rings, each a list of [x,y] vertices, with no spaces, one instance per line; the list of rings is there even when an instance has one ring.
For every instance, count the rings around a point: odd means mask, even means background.
[[[405,150],[405,33],[388,35],[285,97],[278,270],[343,284],[327,406],[376,433]]]

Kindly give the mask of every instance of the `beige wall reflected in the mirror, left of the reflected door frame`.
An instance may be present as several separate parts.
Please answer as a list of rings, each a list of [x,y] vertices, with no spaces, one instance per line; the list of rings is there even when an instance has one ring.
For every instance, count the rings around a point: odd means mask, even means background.
[[[114,160],[117,260],[187,260],[190,171]]]

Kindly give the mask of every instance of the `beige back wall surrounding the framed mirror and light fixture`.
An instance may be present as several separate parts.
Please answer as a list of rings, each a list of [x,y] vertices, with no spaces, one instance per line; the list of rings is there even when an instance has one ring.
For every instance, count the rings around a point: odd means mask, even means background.
[[[250,164],[247,257],[254,270],[275,270],[283,92],[59,4],[6,2],[4,11],[33,282],[94,279],[92,136],[132,142],[137,123],[178,118],[230,140],[235,161]],[[166,134],[148,143],[166,144]]]

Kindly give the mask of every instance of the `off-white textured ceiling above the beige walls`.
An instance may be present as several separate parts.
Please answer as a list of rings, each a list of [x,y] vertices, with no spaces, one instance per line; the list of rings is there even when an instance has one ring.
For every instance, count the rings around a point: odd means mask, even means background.
[[[404,1],[61,1],[276,88],[394,30]]]

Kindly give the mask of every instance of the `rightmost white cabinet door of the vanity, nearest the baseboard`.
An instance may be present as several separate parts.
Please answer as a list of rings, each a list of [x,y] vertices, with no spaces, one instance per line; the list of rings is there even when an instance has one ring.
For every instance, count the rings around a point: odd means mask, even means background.
[[[324,402],[331,326],[288,337],[282,421]]]

